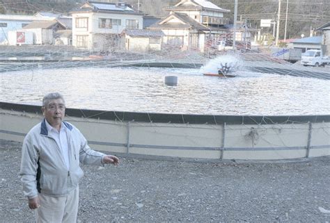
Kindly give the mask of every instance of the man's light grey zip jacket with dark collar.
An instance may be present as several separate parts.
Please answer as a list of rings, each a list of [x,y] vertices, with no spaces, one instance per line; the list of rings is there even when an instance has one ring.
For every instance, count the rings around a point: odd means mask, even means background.
[[[105,154],[88,147],[87,140],[80,131],[68,122],[67,128],[70,169],[65,165],[62,151],[54,138],[48,135],[46,120],[34,126],[24,138],[22,162],[19,175],[23,183],[24,195],[29,199],[38,192],[59,197],[77,188],[84,176],[79,163],[102,165]]]

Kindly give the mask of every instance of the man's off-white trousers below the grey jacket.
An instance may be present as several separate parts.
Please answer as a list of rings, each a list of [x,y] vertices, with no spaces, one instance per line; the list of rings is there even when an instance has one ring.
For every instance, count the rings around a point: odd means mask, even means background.
[[[36,209],[37,223],[77,222],[79,188],[62,197],[38,195],[40,207]]]

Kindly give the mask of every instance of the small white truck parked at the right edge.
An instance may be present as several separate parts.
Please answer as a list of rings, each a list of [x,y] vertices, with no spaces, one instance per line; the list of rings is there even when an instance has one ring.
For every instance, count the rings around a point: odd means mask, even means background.
[[[310,49],[302,54],[300,63],[304,66],[319,67],[330,64],[330,58],[323,56],[320,50]]]

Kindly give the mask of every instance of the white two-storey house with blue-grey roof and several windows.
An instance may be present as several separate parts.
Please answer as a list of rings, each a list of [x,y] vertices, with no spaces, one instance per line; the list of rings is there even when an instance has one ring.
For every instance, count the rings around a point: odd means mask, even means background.
[[[87,1],[72,14],[72,45],[74,47],[109,51],[122,47],[120,33],[142,29],[143,15],[127,3]]]

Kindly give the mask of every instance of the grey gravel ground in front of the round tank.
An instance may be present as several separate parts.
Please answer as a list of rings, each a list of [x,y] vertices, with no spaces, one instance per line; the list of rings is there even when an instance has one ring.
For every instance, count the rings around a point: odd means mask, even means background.
[[[0,222],[33,222],[19,142],[0,141]],[[121,158],[83,166],[79,222],[330,222],[330,157],[276,163]]]

